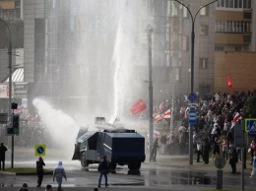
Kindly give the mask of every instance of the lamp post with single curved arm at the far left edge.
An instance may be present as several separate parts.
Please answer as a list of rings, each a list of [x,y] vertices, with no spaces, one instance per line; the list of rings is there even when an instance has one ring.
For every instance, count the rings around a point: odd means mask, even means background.
[[[9,116],[9,124],[12,124],[12,85],[13,85],[13,77],[12,77],[12,74],[13,74],[13,64],[12,64],[12,37],[11,37],[11,30],[9,28],[9,26],[7,25],[7,23],[0,19],[0,22],[2,22],[6,28],[8,29],[8,32],[9,32],[9,45],[8,45],[8,59],[9,59],[9,65],[8,65],[8,68],[9,68],[9,98],[8,98],[8,116]],[[14,135],[12,135],[12,157],[11,157],[11,167],[13,168],[14,167]]]

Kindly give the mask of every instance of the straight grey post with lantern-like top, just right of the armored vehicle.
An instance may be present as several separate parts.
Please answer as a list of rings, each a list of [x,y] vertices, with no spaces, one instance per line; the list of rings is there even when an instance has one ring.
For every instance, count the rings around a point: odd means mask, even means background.
[[[153,85],[152,85],[152,32],[154,32],[151,25],[147,28],[148,32],[148,43],[149,43],[149,107],[150,107],[150,124],[149,124],[149,149],[150,158],[152,156],[152,145],[153,145]]]

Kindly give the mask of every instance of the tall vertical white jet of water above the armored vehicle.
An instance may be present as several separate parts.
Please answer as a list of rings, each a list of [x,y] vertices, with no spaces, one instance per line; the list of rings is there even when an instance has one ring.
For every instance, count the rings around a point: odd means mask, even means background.
[[[114,63],[114,111],[110,123],[117,117],[125,117],[124,110],[128,110],[124,106],[124,102],[128,102],[128,99],[134,96],[132,91],[134,87],[131,86],[133,79],[132,68],[135,61],[135,36],[136,22],[132,9],[129,9],[125,1],[120,1],[118,5],[118,11],[116,17],[119,18],[114,51],[113,51],[113,63]],[[129,87],[130,86],[130,87]],[[136,91],[135,91],[136,92]],[[126,113],[127,115],[127,113]],[[122,118],[123,119],[123,118]]]

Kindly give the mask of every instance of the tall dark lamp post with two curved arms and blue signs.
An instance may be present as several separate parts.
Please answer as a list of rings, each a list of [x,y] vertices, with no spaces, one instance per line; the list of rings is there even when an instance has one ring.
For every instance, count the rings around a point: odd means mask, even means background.
[[[190,73],[190,75],[191,75],[191,84],[190,84],[191,90],[190,91],[191,91],[191,94],[193,94],[194,93],[194,56],[195,56],[195,21],[196,21],[196,17],[201,9],[217,2],[218,0],[212,1],[212,2],[202,6],[196,12],[196,14],[194,16],[192,15],[190,9],[185,4],[181,3],[178,0],[173,0],[173,1],[179,3],[184,8],[186,8],[191,17],[192,29],[191,29],[191,73]],[[193,131],[191,130],[190,125],[189,125],[189,164],[193,164]]]

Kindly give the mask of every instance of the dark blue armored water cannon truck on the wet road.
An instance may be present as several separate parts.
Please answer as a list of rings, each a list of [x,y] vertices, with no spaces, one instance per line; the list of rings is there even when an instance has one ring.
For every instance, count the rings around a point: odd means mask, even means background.
[[[93,129],[98,130],[80,130],[73,159],[79,159],[82,166],[89,166],[106,156],[111,169],[115,169],[117,164],[140,169],[141,162],[146,158],[145,138],[142,135],[135,130],[109,128],[109,125],[96,124]]]

